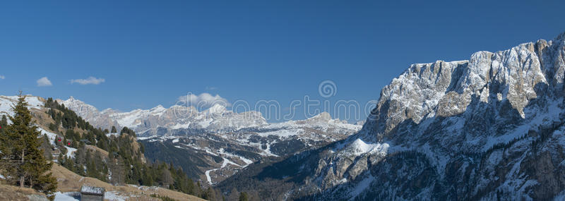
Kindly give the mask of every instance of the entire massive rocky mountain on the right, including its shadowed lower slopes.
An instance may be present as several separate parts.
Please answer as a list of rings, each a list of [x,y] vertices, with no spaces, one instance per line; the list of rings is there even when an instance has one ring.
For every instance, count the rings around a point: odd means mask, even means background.
[[[359,133],[219,186],[268,185],[255,190],[273,199],[559,200],[564,38],[414,64],[383,88]]]

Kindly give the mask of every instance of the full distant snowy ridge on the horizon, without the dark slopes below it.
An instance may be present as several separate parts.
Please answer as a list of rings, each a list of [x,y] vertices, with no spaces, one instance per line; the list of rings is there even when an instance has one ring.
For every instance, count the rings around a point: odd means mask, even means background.
[[[139,136],[152,135],[179,135],[179,130],[196,130],[198,133],[229,133],[237,130],[268,130],[290,127],[310,128],[343,128],[356,130],[358,125],[332,119],[327,112],[313,116],[306,120],[285,121],[283,123],[267,123],[263,114],[258,111],[245,111],[236,113],[226,109],[220,104],[198,111],[194,106],[174,105],[169,108],[158,105],[152,109],[136,109],[129,112],[119,112],[114,109],[99,111],[95,106],[86,104],[70,97],[66,100],[57,99],[67,108],[75,111],[85,120],[100,128],[128,127],[136,131]],[[188,130],[188,131],[187,131]]]

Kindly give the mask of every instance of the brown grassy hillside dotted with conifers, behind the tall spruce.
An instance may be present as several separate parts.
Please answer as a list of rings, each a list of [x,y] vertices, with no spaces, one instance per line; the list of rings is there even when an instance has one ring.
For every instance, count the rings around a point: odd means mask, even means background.
[[[0,111],[3,116],[13,115],[10,106],[16,99],[0,97],[0,109],[7,109]],[[90,126],[73,111],[52,102],[52,99],[27,97],[26,101],[32,120],[42,135],[40,149],[44,152],[44,158],[56,163],[52,171],[61,183],[59,191],[76,191],[82,181],[87,181],[114,189],[116,196],[123,194],[124,190],[130,194],[143,194],[149,190],[156,195],[167,194],[180,198],[189,197],[184,193],[208,198],[215,194],[213,190],[201,190],[174,164],[147,162],[143,145],[136,142],[133,130],[123,128],[120,133],[111,134],[108,130]],[[9,123],[3,120],[1,126]],[[136,191],[124,186],[126,184],[150,187],[141,187]],[[113,188],[113,185],[119,187]]]

